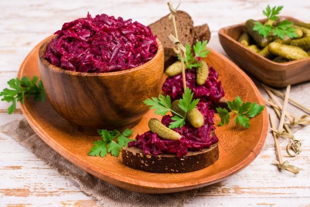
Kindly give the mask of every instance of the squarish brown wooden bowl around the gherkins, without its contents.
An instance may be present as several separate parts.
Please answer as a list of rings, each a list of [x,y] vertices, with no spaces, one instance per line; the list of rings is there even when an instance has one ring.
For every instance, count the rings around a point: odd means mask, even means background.
[[[299,20],[287,16],[281,18],[292,22]],[[266,19],[260,19],[264,22]],[[253,52],[237,40],[245,31],[245,23],[221,28],[218,31],[219,41],[227,55],[243,70],[257,77],[265,84],[284,87],[310,80],[310,57],[278,63]]]

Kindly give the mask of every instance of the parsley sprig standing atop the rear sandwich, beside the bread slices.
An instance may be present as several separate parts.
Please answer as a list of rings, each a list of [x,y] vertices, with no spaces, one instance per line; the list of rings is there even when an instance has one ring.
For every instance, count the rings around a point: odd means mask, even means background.
[[[190,44],[185,44],[186,48],[186,58],[183,60],[185,63],[186,68],[191,69],[192,67],[198,67],[199,63],[198,60],[201,57],[206,57],[210,50],[206,48],[207,40],[204,41],[197,41],[196,44],[193,45],[193,52],[191,49]],[[180,59],[180,55],[177,55],[178,59]]]

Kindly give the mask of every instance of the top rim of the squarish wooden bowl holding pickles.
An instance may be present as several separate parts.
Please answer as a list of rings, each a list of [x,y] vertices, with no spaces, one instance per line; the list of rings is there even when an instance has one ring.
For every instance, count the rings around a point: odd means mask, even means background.
[[[279,16],[280,18],[285,18],[285,19],[289,19],[289,20],[293,20],[293,21],[298,21],[298,22],[301,22],[301,20],[299,19],[296,19],[296,18],[293,18],[293,17],[290,17],[290,16]],[[267,18],[263,18],[263,19],[258,19],[257,21],[266,21]],[[239,23],[239,24],[234,24],[234,25],[230,25],[230,26],[226,26],[226,27],[222,27],[218,30],[218,35],[221,35],[227,39],[229,39],[230,41],[234,42],[234,43],[237,43],[239,44],[243,49],[251,52],[252,54],[260,57],[262,60],[270,63],[270,64],[274,64],[274,65],[279,65],[279,66],[290,66],[292,64],[295,64],[295,63],[298,63],[298,62],[302,62],[302,61],[309,61],[310,60],[310,56],[309,57],[306,57],[306,58],[303,58],[303,59],[297,59],[297,60],[291,60],[291,61],[288,61],[288,62],[275,62],[275,61],[272,61],[260,54],[258,54],[257,52],[254,52],[252,50],[250,50],[249,48],[247,48],[246,46],[244,46],[243,44],[241,44],[240,42],[238,42],[237,40],[235,40],[234,38],[232,38],[230,35],[228,35],[226,33],[226,30],[228,29],[235,29],[235,27],[238,27],[238,26],[244,26],[245,25],[245,22],[243,23]],[[274,69],[274,68],[273,68]]]

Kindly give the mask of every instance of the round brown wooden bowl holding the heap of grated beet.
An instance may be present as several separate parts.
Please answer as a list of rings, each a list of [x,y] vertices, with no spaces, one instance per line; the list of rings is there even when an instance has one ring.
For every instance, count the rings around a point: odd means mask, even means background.
[[[39,71],[46,97],[65,119],[86,128],[115,128],[137,122],[149,107],[143,100],[157,97],[163,73],[163,47],[148,62],[123,71],[74,72],[44,59],[47,43],[38,51]]]

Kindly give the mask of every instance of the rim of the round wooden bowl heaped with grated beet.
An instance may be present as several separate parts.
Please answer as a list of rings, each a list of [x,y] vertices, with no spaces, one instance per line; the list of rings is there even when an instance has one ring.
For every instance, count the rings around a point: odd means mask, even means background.
[[[118,74],[124,74],[124,73],[129,73],[129,72],[133,72],[136,70],[139,70],[141,68],[144,68],[145,66],[148,66],[149,64],[152,63],[152,61],[154,61],[157,58],[160,58],[161,53],[163,53],[163,46],[161,41],[156,38],[156,42],[157,42],[157,51],[156,54],[147,62],[136,66],[136,67],[132,67],[129,69],[124,69],[124,70],[119,70],[119,71],[113,71],[113,72],[77,72],[77,71],[71,71],[71,70],[66,70],[66,69],[62,69],[60,67],[57,67],[56,65],[51,64],[49,61],[47,61],[47,59],[45,59],[43,56],[45,55],[46,52],[46,47],[47,44],[52,40],[52,38],[54,38],[56,36],[56,34],[52,34],[50,36],[48,36],[47,38],[45,38],[43,40],[43,43],[39,46],[39,50],[38,50],[38,60],[41,61],[46,67],[51,68],[54,71],[63,73],[63,74],[69,74],[69,75],[76,75],[76,76],[110,76],[110,75],[118,75]]]

